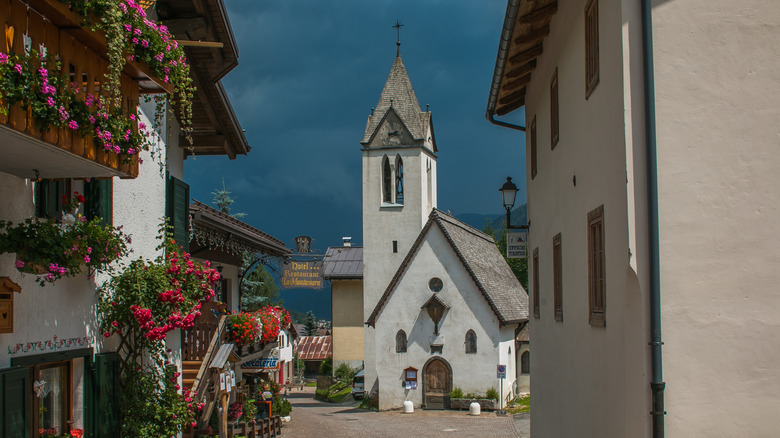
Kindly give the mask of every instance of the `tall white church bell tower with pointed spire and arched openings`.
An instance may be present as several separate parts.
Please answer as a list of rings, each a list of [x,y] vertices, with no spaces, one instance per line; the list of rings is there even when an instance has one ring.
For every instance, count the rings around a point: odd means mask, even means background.
[[[398,43],[390,75],[363,135],[363,316],[371,314],[436,207],[436,139],[430,111],[420,109]],[[366,391],[384,353],[366,327]]]

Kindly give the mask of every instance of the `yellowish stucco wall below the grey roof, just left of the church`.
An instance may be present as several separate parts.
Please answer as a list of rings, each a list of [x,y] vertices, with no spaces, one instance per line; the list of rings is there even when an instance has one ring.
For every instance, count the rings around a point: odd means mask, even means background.
[[[363,281],[332,280],[333,367],[363,366]]]

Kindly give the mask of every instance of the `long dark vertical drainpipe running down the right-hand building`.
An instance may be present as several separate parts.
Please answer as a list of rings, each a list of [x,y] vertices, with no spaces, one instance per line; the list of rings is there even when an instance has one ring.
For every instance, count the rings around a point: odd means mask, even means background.
[[[652,0],[642,0],[642,59],[645,91],[645,143],[647,147],[647,216],[650,241],[650,357],[652,367],[653,438],[664,436],[664,382],[661,346],[661,271],[658,233],[658,161],[656,153],[655,78],[653,77]]]

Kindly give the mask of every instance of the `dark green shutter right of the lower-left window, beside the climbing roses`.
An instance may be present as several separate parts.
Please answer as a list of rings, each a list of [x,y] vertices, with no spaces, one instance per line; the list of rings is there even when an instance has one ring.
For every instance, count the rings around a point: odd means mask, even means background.
[[[95,438],[119,436],[119,355],[95,355],[93,404]]]

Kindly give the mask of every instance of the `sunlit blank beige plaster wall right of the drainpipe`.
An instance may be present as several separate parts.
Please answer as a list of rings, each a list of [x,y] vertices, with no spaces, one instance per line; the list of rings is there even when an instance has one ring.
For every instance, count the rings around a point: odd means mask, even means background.
[[[654,2],[668,436],[780,429],[780,8]]]

